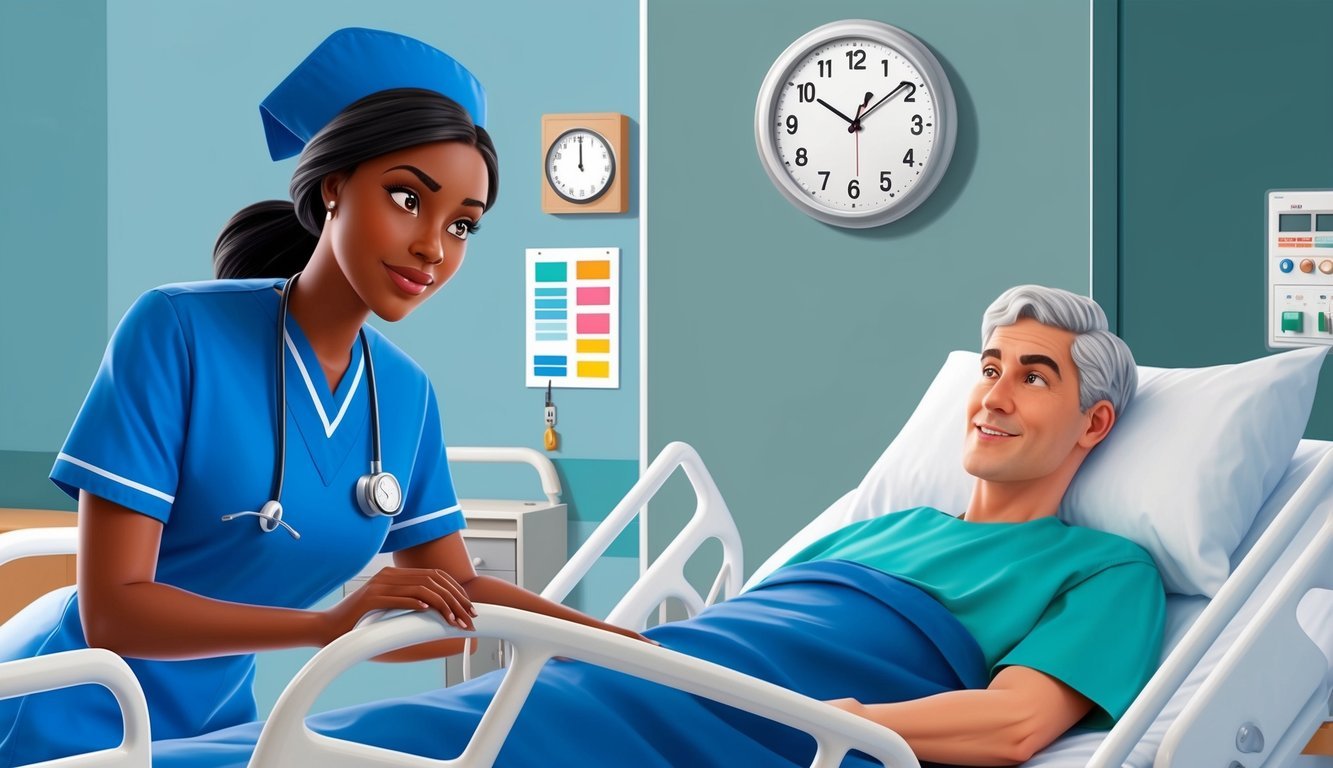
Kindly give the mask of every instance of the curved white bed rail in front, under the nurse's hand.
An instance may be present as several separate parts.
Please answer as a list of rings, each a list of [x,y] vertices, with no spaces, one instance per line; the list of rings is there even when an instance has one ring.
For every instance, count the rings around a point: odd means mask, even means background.
[[[833,768],[849,749],[860,749],[886,768],[920,764],[901,736],[814,699],[749,677],[726,667],[674,651],[517,611],[476,604],[476,632],[447,625],[435,613],[411,613],[369,624],[321,649],[279,697],[260,735],[252,768],[319,765],[320,768],[452,768],[495,763],[524,699],[543,664],[553,656],[591,661],[738,707],[813,736],[817,751],[812,768]],[[513,663],[504,672],[495,699],[463,753],[436,760],[355,744],[315,733],[305,716],[325,685],[353,664],[395,648],[440,637],[495,636],[513,644]]]

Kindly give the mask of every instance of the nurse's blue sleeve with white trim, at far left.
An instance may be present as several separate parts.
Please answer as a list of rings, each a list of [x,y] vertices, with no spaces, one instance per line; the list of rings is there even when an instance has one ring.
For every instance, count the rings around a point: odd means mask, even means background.
[[[171,299],[149,291],[116,327],[51,480],[163,523],[180,477],[191,356]]]

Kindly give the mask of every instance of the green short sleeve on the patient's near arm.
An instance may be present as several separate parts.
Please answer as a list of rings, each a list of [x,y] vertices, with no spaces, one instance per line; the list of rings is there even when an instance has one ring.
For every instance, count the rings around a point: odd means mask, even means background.
[[[1081,725],[1110,728],[1157,669],[1165,617],[1157,569],[1142,561],[1113,565],[1056,597],[994,672],[1045,672],[1096,704]]]

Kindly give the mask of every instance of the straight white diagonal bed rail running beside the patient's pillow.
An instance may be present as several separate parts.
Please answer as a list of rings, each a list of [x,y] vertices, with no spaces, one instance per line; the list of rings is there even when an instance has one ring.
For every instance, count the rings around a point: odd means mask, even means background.
[[[1330,495],[1330,487],[1333,487],[1333,449],[1324,453],[1314,471],[1282,505],[1250,553],[1236,568],[1230,579],[1222,584],[1217,596],[1209,601],[1208,608],[1200,613],[1176,648],[1166,656],[1166,660],[1157,668],[1157,673],[1148,681],[1144,691],[1093,753],[1088,768],[1118,768],[1125,763],[1172,695],[1309,520],[1312,509]],[[1192,760],[1190,764],[1202,763]]]

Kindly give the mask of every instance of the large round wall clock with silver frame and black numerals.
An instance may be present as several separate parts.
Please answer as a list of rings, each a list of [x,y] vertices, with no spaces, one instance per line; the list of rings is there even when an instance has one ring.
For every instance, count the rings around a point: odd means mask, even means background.
[[[764,77],[754,143],[802,212],[838,227],[905,216],[940,184],[957,131],[953,88],[920,40],[844,20],[792,43]]]

